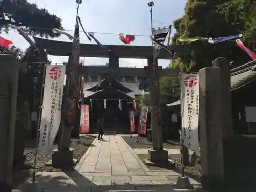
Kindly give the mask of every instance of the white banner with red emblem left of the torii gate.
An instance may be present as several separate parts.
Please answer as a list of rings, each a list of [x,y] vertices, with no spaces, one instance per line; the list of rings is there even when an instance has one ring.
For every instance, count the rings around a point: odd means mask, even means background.
[[[65,65],[46,67],[44,98],[40,123],[39,152],[52,154],[53,142],[59,130]]]

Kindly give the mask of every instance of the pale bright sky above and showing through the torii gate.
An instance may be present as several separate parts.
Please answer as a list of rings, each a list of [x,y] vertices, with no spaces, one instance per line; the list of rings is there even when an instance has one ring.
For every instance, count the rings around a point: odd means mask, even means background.
[[[66,32],[74,34],[77,4],[75,0],[31,0],[39,8],[44,8],[50,13],[55,13],[62,19]],[[119,33],[135,35],[135,40],[131,45],[142,46],[151,45],[149,38],[151,32],[150,8],[147,3],[150,0],[83,0],[80,5],[79,16],[86,31],[95,32],[94,36],[105,45],[124,45],[118,37]],[[153,27],[163,27],[173,25],[173,21],[184,14],[186,0],[155,0],[153,6]],[[40,22],[40,21],[38,21]],[[81,28],[80,28],[81,30]],[[102,34],[113,33],[113,34]],[[172,32],[172,34],[174,31]],[[143,35],[143,36],[137,36]],[[21,49],[26,49],[27,41],[14,31],[9,34],[2,34],[2,37],[13,41],[13,45]],[[70,41],[66,36],[56,38],[60,41]],[[80,33],[80,42],[94,44],[90,42],[84,33]],[[50,56],[52,62],[67,62],[67,57]],[[83,60],[84,58],[81,58]],[[84,59],[85,65],[106,65],[108,58]],[[166,67],[169,60],[158,61],[160,66]],[[120,67],[143,67],[147,61],[143,59],[120,59]]]

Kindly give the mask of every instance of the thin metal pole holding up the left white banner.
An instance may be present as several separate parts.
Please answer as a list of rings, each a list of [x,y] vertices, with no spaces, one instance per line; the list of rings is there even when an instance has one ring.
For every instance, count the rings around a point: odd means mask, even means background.
[[[39,129],[40,129],[40,124],[41,124],[42,100],[44,97],[44,89],[45,89],[45,77],[46,77],[46,62],[44,62],[44,70],[42,72],[42,88],[41,88],[40,108],[39,108],[39,114],[38,114],[37,133],[36,133],[34,169],[33,169],[33,176],[32,176],[33,183],[35,183],[35,173],[36,173],[36,168],[37,168],[37,148],[38,148],[38,140],[39,140],[39,133],[40,133]]]

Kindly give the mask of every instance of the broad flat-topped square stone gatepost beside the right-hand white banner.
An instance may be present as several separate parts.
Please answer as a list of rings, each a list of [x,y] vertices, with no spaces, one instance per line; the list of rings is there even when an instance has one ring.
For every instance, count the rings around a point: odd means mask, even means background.
[[[224,183],[220,77],[217,67],[199,71],[201,182],[207,188],[222,187]]]

